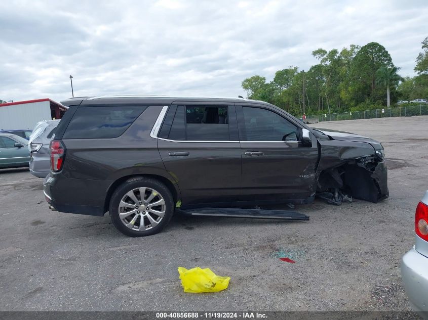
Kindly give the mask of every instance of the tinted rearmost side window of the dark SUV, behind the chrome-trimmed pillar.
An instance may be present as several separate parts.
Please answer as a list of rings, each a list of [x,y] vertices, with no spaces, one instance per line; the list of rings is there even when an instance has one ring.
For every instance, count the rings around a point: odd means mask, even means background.
[[[146,108],[142,106],[79,107],[62,138],[117,138]]]

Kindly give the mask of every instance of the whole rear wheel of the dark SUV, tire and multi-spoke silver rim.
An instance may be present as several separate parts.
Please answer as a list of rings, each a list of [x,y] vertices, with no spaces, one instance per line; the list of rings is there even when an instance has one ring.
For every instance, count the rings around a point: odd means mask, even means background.
[[[111,222],[121,233],[144,237],[161,232],[169,223],[174,200],[162,182],[134,177],[113,192],[108,211]]]

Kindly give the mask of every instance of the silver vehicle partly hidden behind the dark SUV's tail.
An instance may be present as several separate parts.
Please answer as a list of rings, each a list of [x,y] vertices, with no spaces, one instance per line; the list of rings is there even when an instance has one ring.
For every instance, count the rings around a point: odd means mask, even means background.
[[[31,152],[30,172],[32,175],[44,178],[50,170],[49,144],[55,128],[60,120],[41,121],[36,124],[30,135],[28,148]]]

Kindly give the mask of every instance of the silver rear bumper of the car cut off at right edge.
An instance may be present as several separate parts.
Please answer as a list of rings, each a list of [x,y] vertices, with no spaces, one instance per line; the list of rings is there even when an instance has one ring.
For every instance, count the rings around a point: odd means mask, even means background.
[[[412,308],[428,318],[428,258],[412,248],[403,256],[401,277]]]

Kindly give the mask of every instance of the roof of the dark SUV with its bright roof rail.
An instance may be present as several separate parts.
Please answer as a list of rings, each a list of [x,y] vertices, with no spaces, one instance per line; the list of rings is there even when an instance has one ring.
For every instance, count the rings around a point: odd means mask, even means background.
[[[98,104],[133,104],[144,103],[153,105],[169,105],[174,101],[194,101],[194,102],[257,102],[266,104],[266,102],[249,100],[244,98],[231,97],[198,97],[198,96],[168,96],[168,95],[109,95],[98,97],[74,97],[61,101],[64,106],[72,105],[98,105]]]

